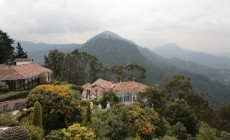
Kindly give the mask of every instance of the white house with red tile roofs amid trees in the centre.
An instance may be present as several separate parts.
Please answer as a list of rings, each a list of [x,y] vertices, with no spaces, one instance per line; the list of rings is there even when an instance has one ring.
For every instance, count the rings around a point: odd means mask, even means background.
[[[134,102],[138,94],[144,92],[148,86],[135,81],[113,83],[98,79],[94,83],[87,83],[82,87],[84,88],[82,93],[83,98],[97,98],[102,96],[103,92],[113,90],[120,102],[130,104]]]

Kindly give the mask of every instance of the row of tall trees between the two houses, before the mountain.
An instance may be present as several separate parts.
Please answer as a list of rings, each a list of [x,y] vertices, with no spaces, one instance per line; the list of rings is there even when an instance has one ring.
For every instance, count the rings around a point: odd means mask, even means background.
[[[55,79],[77,85],[93,82],[99,77],[110,81],[140,81],[146,73],[144,67],[136,64],[106,68],[95,56],[77,49],[67,54],[57,49],[50,50],[44,58],[45,66],[53,71]]]

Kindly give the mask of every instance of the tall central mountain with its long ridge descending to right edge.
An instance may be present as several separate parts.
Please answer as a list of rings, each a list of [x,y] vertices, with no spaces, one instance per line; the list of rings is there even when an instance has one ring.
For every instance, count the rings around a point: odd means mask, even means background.
[[[174,49],[177,49],[177,46],[174,47]],[[208,92],[209,99],[213,104],[218,105],[222,102],[230,101],[230,86],[218,81],[212,81],[204,75],[192,73],[189,69],[184,68],[184,65],[191,65],[188,68],[194,68],[193,71],[200,69],[204,74],[211,69],[213,75],[216,77],[219,76],[217,74],[218,70],[194,62],[188,63],[182,59],[164,58],[112,32],[103,32],[96,35],[82,44],[80,51],[96,56],[100,62],[108,67],[113,65],[128,65],[131,63],[144,66],[147,70],[147,78],[143,82],[149,85],[162,86],[172,74],[182,73],[191,77],[195,90]],[[210,75],[212,74],[210,73]]]

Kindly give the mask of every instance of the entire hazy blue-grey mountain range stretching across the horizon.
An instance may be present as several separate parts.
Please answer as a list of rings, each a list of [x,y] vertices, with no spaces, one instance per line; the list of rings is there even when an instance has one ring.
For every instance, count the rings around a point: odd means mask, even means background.
[[[44,63],[44,55],[55,48],[63,52],[79,49],[96,56],[107,67],[139,64],[147,70],[147,78],[142,82],[154,86],[162,86],[172,74],[182,73],[191,77],[195,90],[208,92],[213,104],[230,102],[228,82],[230,61],[227,63],[229,59],[227,57],[188,51],[175,44],[162,46],[153,52],[108,31],[96,35],[84,44],[43,44],[23,41],[20,43],[29,57],[38,60],[40,64]],[[200,60],[201,58],[204,60]],[[208,59],[213,60],[213,63]],[[223,65],[218,64],[217,59],[224,60]]]

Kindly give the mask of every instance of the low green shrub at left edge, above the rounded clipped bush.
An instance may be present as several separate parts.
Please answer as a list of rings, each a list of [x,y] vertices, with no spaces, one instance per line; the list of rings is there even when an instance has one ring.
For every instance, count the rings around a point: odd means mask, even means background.
[[[0,126],[16,126],[18,121],[11,113],[0,114]]]

